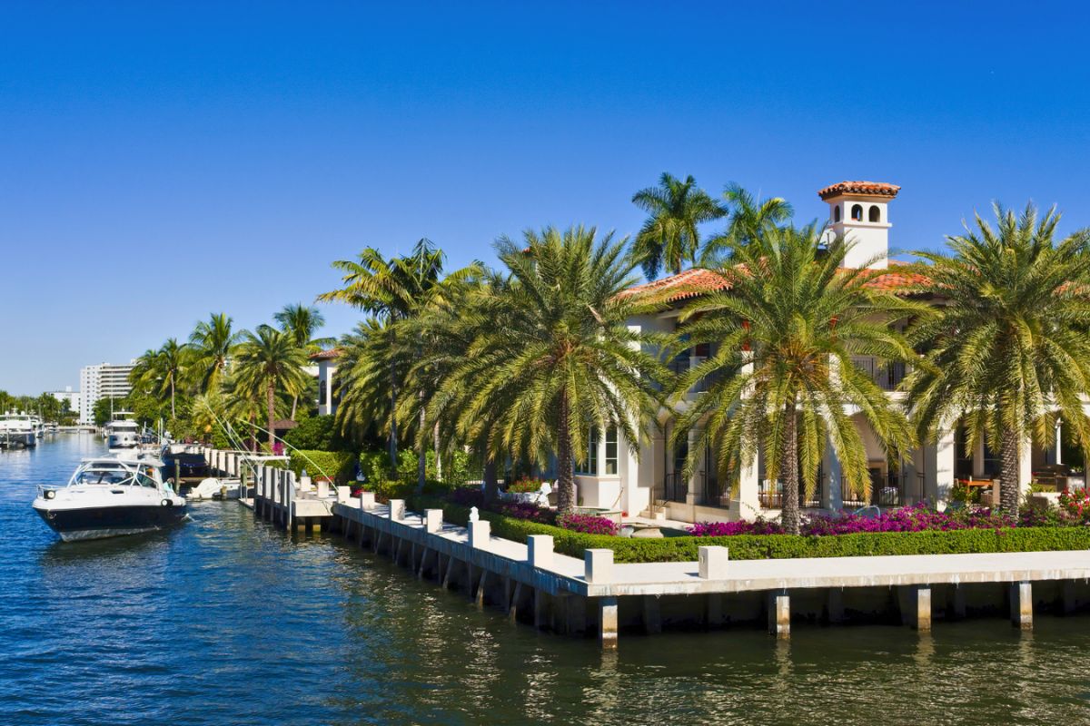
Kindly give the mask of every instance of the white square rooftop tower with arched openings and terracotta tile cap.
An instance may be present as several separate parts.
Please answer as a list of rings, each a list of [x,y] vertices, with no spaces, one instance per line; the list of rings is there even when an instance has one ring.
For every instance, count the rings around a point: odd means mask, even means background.
[[[845,267],[885,268],[889,254],[888,205],[900,192],[882,182],[840,182],[818,193],[828,204],[828,229],[855,245],[844,259]],[[876,255],[882,259],[874,261]]]

